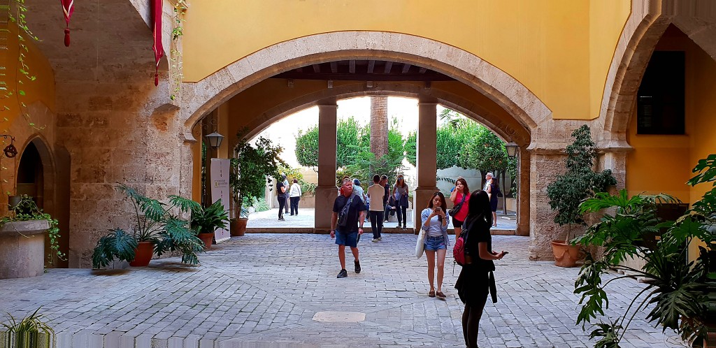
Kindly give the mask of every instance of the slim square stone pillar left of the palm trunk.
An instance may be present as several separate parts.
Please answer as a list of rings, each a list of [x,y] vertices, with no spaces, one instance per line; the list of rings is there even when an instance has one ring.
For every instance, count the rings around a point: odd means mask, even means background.
[[[318,187],[314,211],[314,233],[328,233],[331,229],[333,203],[338,195],[336,187],[337,111],[335,102],[318,105]]]

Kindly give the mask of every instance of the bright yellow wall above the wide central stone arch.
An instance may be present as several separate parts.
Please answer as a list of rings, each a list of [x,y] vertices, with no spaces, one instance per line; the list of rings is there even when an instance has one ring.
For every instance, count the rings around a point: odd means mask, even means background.
[[[592,119],[629,0],[193,1],[183,37],[185,81],[312,34],[365,30],[465,49],[518,79],[555,118]]]

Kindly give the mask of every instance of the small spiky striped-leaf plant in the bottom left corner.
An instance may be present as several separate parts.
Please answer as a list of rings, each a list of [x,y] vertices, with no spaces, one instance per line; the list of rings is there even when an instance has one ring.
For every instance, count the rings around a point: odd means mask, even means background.
[[[42,307],[19,322],[11,314],[7,314],[9,322],[0,323],[4,332],[0,332],[2,347],[40,348],[53,347],[54,330],[46,322],[44,316],[37,314]]]

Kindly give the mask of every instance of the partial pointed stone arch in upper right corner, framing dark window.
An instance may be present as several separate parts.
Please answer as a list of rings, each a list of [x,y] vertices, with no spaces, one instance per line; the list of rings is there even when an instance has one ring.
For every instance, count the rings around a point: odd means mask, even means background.
[[[630,148],[626,142],[627,126],[639,84],[654,47],[669,24],[677,26],[716,59],[716,6],[713,1],[632,0],[632,14],[624,25],[604,86],[600,148]]]

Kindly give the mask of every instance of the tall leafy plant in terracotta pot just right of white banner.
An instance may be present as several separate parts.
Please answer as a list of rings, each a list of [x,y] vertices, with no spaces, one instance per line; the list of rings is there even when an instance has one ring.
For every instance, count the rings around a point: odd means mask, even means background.
[[[279,177],[279,165],[287,166],[279,157],[284,150],[281,146],[274,145],[265,137],[258,137],[251,145],[245,135],[246,130],[236,134],[238,145],[231,159],[229,185],[233,198],[233,216],[238,216],[231,226],[232,236],[243,236],[246,232],[248,209],[244,204],[253,201],[253,198],[263,199],[266,185],[271,185],[269,178]]]

